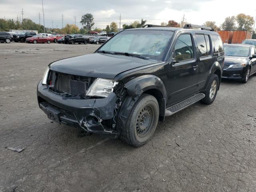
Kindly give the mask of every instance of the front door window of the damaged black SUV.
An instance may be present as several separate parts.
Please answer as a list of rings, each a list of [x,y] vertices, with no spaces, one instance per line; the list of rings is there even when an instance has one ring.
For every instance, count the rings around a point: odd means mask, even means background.
[[[174,46],[175,60],[182,62],[194,58],[192,38],[190,34],[183,34],[178,37]]]

